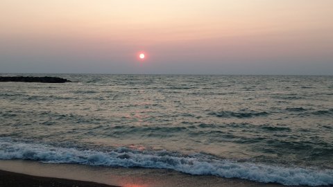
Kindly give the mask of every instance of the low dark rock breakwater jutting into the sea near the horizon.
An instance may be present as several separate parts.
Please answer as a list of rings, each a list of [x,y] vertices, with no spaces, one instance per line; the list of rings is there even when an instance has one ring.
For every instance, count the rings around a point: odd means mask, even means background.
[[[64,83],[71,82],[65,78],[57,78],[57,77],[1,77],[0,82],[42,82],[42,83]]]

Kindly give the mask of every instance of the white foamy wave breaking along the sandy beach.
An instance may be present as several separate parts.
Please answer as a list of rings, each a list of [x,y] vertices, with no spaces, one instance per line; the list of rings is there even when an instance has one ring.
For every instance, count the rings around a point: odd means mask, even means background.
[[[0,159],[30,159],[44,163],[78,163],[90,166],[163,168],[191,175],[216,175],[284,185],[333,184],[333,170],[269,166],[219,159],[207,154],[184,155],[167,150],[148,151],[130,148],[80,150],[0,139]]]

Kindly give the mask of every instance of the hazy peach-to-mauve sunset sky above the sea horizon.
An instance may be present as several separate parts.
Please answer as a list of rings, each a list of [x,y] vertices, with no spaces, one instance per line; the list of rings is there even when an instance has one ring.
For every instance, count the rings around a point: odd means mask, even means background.
[[[333,75],[332,8],[332,0],[1,0],[0,73]]]

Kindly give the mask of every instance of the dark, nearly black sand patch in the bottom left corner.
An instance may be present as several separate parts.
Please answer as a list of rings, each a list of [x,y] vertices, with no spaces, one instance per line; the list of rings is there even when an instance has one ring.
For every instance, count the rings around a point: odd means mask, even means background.
[[[16,172],[0,170],[1,187],[111,187],[106,184],[98,184],[90,181],[76,181],[70,179],[58,179],[51,177],[36,177]]]

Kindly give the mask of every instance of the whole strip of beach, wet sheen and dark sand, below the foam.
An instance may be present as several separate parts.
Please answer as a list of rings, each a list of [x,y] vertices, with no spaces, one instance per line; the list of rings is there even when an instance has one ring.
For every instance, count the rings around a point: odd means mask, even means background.
[[[1,171],[2,170],[2,171]],[[2,177],[8,176],[8,177]],[[16,178],[15,178],[16,177]],[[5,179],[5,180],[3,180]],[[8,179],[15,179],[16,185],[37,184],[44,186],[269,186],[283,187],[282,184],[260,183],[245,179],[223,178],[206,175],[188,175],[174,170],[149,168],[109,168],[83,166],[78,164],[40,163],[26,160],[0,160],[0,186],[6,186]],[[36,184],[36,185],[37,185]],[[42,187],[44,187],[42,185]],[[10,185],[9,185],[10,186]],[[15,186],[15,185],[11,185]],[[19,185],[18,185],[19,186]],[[37,185],[38,186],[38,185]]]

